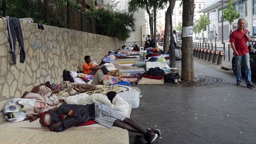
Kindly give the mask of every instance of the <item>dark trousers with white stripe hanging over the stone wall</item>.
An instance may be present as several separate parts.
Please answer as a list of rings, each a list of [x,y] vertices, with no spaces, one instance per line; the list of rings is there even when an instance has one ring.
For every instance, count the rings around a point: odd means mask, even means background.
[[[18,20],[17,18],[7,17],[7,25],[8,25],[9,43],[11,46],[13,64],[16,65],[16,55],[15,55],[16,37],[20,43],[20,62],[24,63],[25,50],[24,50],[23,33],[21,30],[20,20]]]

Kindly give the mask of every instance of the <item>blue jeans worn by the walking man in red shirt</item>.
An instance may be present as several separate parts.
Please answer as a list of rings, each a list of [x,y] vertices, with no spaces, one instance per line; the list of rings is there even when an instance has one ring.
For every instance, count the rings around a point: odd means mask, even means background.
[[[242,56],[235,56],[236,63],[236,83],[242,82],[241,66],[242,62],[245,64],[245,82],[246,84],[252,84],[251,82],[251,68],[249,65],[249,53]]]

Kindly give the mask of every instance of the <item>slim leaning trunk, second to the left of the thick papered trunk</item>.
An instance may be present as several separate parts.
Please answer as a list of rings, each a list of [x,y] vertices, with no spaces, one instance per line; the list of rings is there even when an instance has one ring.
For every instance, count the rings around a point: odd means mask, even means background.
[[[164,53],[167,53],[169,50],[169,9],[167,9],[167,13],[165,14],[165,33],[164,33]]]

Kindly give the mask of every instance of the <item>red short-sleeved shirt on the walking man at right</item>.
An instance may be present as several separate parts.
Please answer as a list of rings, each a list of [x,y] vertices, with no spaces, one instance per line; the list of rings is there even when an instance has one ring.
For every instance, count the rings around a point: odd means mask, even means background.
[[[230,36],[230,41],[235,44],[235,49],[239,56],[249,53],[249,49],[247,47],[247,36],[245,36],[246,33],[247,30],[241,31],[236,29]]]

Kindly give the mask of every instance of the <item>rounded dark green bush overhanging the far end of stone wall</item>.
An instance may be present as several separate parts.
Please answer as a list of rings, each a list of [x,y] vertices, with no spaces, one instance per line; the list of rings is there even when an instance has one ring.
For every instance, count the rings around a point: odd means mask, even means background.
[[[97,9],[87,13],[95,18],[97,34],[126,40],[136,30],[135,18],[129,12],[113,12],[109,9]]]

